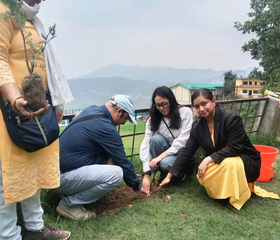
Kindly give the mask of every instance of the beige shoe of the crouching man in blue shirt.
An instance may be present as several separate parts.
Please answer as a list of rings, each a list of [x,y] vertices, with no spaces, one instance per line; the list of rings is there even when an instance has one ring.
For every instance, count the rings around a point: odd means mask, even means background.
[[[58,214],[65,218],[70,218],[73,220],[87,220],[90,218],[95,218],[96,214],[94,212],[86,210],[84,207],[79,207],[75,209],[67,209],[60,205],[56,207]]]

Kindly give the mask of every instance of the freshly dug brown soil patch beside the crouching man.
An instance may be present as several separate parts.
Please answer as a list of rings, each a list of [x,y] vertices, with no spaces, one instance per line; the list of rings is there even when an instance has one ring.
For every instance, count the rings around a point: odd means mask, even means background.
[[[160,190],[160,192],[161,191],[162,190]],[[94,210],[96,214],[112,215],[119,213],[123,206],[133,207],[133,202],[138,199],[142,201],[145,201],[146,199],[152,200],[156,194],[156,187],[154,186],[151,186],[150,196],[148,197],[134,191],[128,186],[117,187],[96,202],[88,204],[87,207]]]

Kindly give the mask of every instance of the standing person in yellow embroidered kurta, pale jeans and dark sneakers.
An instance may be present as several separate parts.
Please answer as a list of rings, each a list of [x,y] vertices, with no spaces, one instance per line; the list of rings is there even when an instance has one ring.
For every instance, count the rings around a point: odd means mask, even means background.
[[[31,13],[35,12],[36,15],[39,11],[39,5],[36,3],[39,2],[41,1],[25,0],[22,6],[27,10],[30,9]],[[8,99],[12,102],[20,95],[22,78],[29,73],[26,68],[21,33],[13,21],[4,20],[3,15],[6,11],[8,11],[6,6],[0,2],[0,92],[3,100]],[[27,14],[27,17],[29,15]],[[32,17],[27,19],[32,20]],[[41,41],[32,21],[26,22],[25,31],[32,33],[33,42]],[[28,47],[27,45],[29,53]],[[35,60],[38,66],[45,65],[44,54],[40,54]],[[41,68],[36,68],[35,71],[43,76],[45,90],[48,91],[48,72]],[[14,106],[30,118],[30,112],[25,109],[26,104],[24,99],[19,98]],[[43,111],[44,109],[41,109],[33,113],[33,116],[39,116]],[[61,121],[61,109],[57,112],[58,119]],[[2,113],[0,138],[0,239],[22,239],[20,227],[16,226],[16,202],[21,202],[27,230],[24,239],[67,239],[70,232],[44,226],[43,209],[40,204],[40,189],[56,188],[60,184],[58,139],[50,146],[28,153],[11,141]]]

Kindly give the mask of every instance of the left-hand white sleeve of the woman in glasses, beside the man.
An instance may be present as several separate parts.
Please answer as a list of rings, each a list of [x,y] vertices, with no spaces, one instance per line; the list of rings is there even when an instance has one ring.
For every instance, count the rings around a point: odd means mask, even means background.
[[[141,143],[140,146],[140,159],[143,164],[143,172],[150,170],[150,140],[153,135],[155,135],[155,132],[151,131],[151,126],[150,126],[150,119],[146,122],[146,130],[145,130],[145,137]]]

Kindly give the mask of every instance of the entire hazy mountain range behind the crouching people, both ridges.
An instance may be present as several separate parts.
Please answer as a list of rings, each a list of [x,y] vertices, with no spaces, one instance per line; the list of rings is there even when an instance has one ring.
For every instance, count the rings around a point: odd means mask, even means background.
[[[237,76],[244,76],[252,69],[233,72],[237,73]],[[84,109],[90,105],[102,105],[115,94],[131,96],[136,109],[148,108],[152,92],[157,86],[171,87],[178,83],[222,84],[225,71],[227,70],[109,65],[89,74],[68,79],[75,101],[66,104],[65,109]]]

